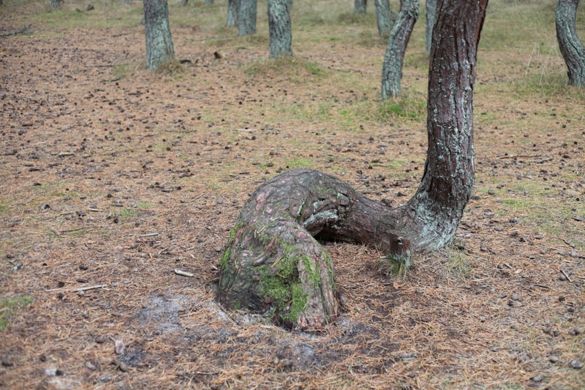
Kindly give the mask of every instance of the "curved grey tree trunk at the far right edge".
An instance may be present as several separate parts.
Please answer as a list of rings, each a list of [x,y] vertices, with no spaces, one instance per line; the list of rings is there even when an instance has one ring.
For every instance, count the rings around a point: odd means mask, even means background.
[[[585,88],[585,49],[575,28],[578,6],[579,0],[559,0],[556,12],[557,41],[568,68],[568,83]]]

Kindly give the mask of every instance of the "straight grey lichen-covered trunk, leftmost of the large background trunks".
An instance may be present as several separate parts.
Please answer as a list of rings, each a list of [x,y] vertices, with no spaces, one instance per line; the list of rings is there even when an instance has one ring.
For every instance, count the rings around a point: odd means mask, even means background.
[[[175,59],[167,0],[144,0],[147,69]]]

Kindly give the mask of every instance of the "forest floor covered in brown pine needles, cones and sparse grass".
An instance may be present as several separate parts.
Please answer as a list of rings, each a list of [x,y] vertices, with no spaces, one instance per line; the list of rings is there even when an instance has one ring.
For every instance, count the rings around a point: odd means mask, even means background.
[[[324,243],[343,312],[308,334],[222,310],[222,248],[288,169],[414,194],[423,15],[383,104],[373,6],[295,0],[295,57],[269,61],[265,3],[238,39],[223,1],[175,1],[182,61],[149,72],[140,2],[45,3],[0,6],[1,389],[585,388],[585,93],[553,6],[489,8],[454,246],[397,275],[376,248]]]

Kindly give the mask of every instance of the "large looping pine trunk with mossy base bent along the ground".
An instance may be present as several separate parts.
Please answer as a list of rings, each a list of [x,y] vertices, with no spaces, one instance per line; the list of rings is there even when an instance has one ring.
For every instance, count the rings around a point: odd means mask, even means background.
[[[222,257],[217,300],[301,329],[337,315],[332,263],[313,237],[368,243],[406,261],[450,243],[474,183],[473,89],[487,0],[443,0],[429,67],[429,149],[421,186],[399,208],[318,171],[295,169],[246,202]]]

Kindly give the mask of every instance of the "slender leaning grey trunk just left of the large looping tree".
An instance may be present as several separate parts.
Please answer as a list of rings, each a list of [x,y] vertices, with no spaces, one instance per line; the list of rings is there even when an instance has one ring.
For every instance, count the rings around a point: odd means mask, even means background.
[[[418,19],[418,0],[401,0],[400,12],[390,33],[382,67],[382,100],[400,94],[404,53]]]

